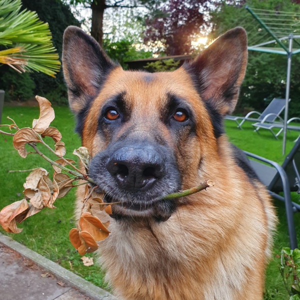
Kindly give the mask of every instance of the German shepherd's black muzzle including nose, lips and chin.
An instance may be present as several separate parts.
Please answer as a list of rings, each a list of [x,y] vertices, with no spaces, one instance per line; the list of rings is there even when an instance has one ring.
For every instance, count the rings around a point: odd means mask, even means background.
[[[175,199],[163,195],[179,189],[179,173],[172,151],[145,140],[116,140],[90,162],[90,177],[104,191],[104,202],[113,205],[113,216],[153,217],[166,220],[175,210]]]

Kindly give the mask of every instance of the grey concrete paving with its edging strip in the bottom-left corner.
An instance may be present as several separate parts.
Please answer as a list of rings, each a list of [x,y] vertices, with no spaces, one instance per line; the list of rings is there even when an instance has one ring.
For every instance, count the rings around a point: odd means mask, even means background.
[[[6,248],[5,250],[6,252],[3,250],[4,249],[3,246]],[[54,299],[55,300],[69,300],[69,299],[117,300],[117,298],[114,297],[112,294],[110,294],[108,291],[95,286],[94,284],[84,280],[78,275],[58,265],[57,263],[28,249],[24,245],[16,242],[12,238],[5,236],[1,233],[0,233],[0,248],[2,248],[3,250],[1,252],[4,252],[1,254],[3,256],[0,256],[0,259],[2,259],[0,260],[0,300],[31,300],[31,299],[34,300],[54,300]],[[19,259],[21,260],[23,259],[24,261],[27,261],[26,262],[27,268],[29,268],[29,270],[26,269],[26,265],[25,265],[25,270],[22,268],[21,269],[18,268],[20,266],[21,267],[24,266],[24,264],[21,264],[21,261],[18,262],[14,261],[14,259],[18,259],[18,258],[14,257],[13,259],[10,260],[10,263],[8,263],[9,259],[7,258],[7,256],[5,256],[6,255],[5,253],[7,253],[7,249],[14,251],[15,252],[14,255],[18,255]],[[7,267],[8,269],[6,270]],[[30,269],[33,270],[33,268],[36,269],[37,272],[39,271],[38,276],[40,276],[42,279],[45,278],[50,278],[50,279],[55,278],[55,279],[53,279],[52,281],[38,280],[39,282],[38,284],[41,285],[39,285],[39,288],[37,289],[41,290],[40,288],[42,288],[43,291],[41,292],[41,294],[35,294],[35,296],[32,298],[29,297],[27,298],[26,296],[24,296],[23,292],[20,292],[20,290],[18,289],[18,285],[21,285],[21,282],[24,281],[25,283],[22,283],[23,284],[22,286],[26,287],[27,284],[26,289],[30,291],[30,293],[28,294],[33,295],[33,291],[35,290],[34,289],[35,283],[34,280],[29,280],[31,276]],[[23,272],[23,276],[26,279],[24,278],[21,279],[17,277],[17,275],[18,274],[20,275],[22,272]],[[2,273],[3,275],[1,275]],[[41,274],[43,274],[44,277],[42,277]],[[4,280],[6,280],[5,290],[3,287],[4,285],[2,284]],[[17,292],[14,292],[14,290],[16,290]],[[2,295],[5,295],[6,298]],[[18,295],[21,296],[18,297]]]

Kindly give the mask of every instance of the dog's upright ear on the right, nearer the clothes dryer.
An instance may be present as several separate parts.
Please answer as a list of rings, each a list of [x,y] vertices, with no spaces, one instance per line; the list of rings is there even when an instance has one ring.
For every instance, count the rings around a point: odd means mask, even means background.
[[[234,110],[246,64],[246,32],[236,27],[218,37],[184,67],[192,76],[201,98],[224,115]]]

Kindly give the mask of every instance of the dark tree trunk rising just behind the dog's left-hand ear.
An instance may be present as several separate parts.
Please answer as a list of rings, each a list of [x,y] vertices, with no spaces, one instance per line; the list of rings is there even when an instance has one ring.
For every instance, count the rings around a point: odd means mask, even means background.
[[[103,13],[105,8],[105,0],[93,0],[91,3],[90,34],[100,45],[102,45],[103,39]]]

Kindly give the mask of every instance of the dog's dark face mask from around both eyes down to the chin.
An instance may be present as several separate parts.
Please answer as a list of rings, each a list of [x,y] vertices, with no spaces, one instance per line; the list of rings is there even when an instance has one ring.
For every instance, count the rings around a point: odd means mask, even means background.
[[[99,109],[97,134],[107,146],[93,155],[89,176],[105,202],[121,201],[112,206],[116,218],[166,220],[176,208],[176,199],[162,198],[181,187],[176,140],[193,134],[192,113],[184,99],[169,93],[161,93],[160,109],[151,109],[142,100],[147,93],[124,91]]]

